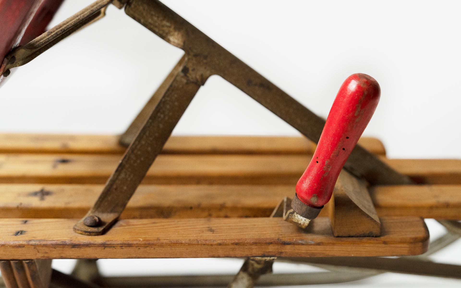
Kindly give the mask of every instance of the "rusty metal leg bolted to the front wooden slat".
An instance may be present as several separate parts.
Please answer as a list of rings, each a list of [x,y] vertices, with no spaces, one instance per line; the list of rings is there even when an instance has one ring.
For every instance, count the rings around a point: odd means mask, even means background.
[[[201,85],[183,71],[176,75],[128,147],[95,205],[75,224],[74,231],[100,235],[117,220]]]

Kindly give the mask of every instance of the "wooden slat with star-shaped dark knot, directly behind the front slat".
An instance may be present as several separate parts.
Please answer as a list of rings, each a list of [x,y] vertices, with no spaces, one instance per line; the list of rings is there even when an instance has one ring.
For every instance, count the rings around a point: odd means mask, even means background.
[[[102,188],[0,184],[0,218],[80,218]],[[293,185],[141,185],[121,218],[269,217],[294,193]],[[378,186],[370,194],[380,217],[461,219],[461,185]]]

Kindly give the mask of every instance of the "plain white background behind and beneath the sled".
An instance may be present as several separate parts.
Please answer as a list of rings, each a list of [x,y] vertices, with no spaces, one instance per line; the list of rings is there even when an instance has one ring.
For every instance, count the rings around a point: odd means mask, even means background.
[[[53,25],[91,3],[66,0]],[[350,74],[373,76],[381,100],[364,135],[393,158],[461,158],[461,3],[456,1],[165,0],[171,9],[313,112],[326,117]],[[0,90],[0,133],[121,133],[181,57],[111,6],[106,18],[62,41]],[[174,134],[298,135],[219,76],[202,87]],[[433,235],[442,233],[429,221]],[[436,256],[461,264],[460,242]],[[122,261],[124,264],[121,264]],[[233,273],[240,260],[101,260],[103,272]],[[55,261],[69,270],[71,262]],[[123,267],[123,269],[117,268]],[[285,269],[285,270],[284,270]],[[299,268],[301,269],[301,268]],[[276,272],[291,271],[280,264]],[[392,275],[392,276],[388,276]],[[370,284],[375,283],[375,284]],[[379,283],[379,284],[376,284]],[[386,274],[344,284],[459,287]],[[340,286],[340,285],[338,285]],[[326,286],[325,286],[326,287]]]

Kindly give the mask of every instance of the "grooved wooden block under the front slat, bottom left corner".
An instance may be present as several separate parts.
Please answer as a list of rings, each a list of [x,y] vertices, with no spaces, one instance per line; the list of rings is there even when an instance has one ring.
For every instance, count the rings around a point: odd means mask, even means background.
[[[1,260],[0,270],[6,288],[48,288],[50,285],[51,259]]]

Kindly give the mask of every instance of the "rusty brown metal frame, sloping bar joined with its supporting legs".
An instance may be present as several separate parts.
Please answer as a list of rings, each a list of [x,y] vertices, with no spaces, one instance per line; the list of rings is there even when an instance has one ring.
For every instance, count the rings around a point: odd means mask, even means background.
[[[155,95],[160,99],[158,103],[152,100],[121,138],[126,143],[127,137],[134,135],[144,122],[95,205],[74,226],[77,233],[101,235],[118,219],[190,101],[212,75],[223,77],[311,141],[319,141],[325,124],[322,118],[161,2],[131,0],[126,4],[125,12],[165,41],[181,48],[185,54]],[[413,183],[408,176],[396,172],[358,145],[344,169],[371,184]]]

